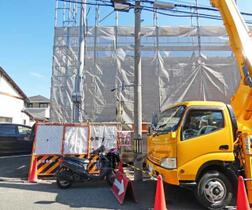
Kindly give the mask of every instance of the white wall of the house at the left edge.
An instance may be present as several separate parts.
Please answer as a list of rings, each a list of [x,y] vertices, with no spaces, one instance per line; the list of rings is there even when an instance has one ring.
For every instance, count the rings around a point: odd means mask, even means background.
[[[32,125],[29,116],[22,112],[24,105],[22,96],[0,75],[0,119],[11,118],[12,123]]]

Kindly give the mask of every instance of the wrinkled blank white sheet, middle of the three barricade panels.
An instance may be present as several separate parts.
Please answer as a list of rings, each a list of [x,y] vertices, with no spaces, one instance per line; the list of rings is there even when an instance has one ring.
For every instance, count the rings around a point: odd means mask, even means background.
[[[64,154],[88,153],[88,127],[66,127]]]

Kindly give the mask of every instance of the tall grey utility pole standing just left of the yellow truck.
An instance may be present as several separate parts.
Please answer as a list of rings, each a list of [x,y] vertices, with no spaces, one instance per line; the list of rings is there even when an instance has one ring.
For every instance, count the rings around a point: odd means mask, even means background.
[[[141,70],[141,1],[135,1],[135,69],[134,69],[134,166],[142,169],[142,70]],[[134,179],[142,180],[142,172],[134,171]]]

